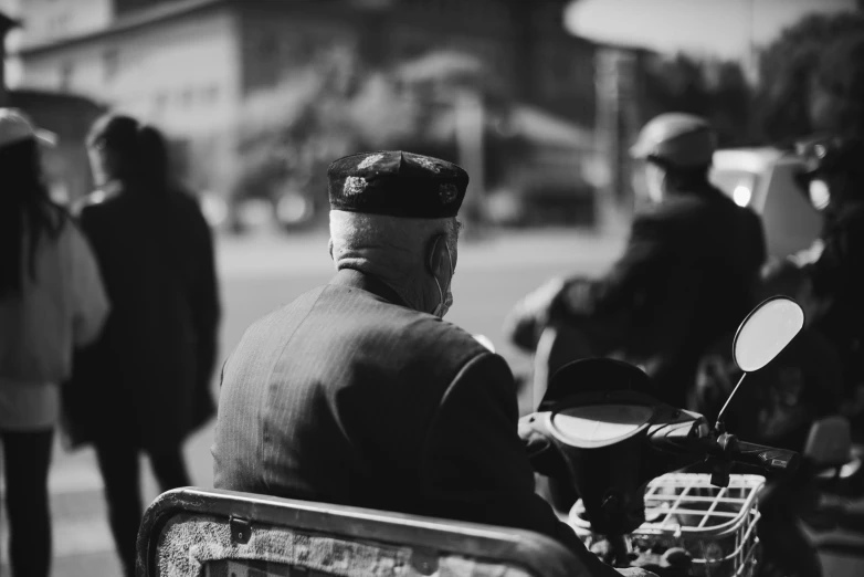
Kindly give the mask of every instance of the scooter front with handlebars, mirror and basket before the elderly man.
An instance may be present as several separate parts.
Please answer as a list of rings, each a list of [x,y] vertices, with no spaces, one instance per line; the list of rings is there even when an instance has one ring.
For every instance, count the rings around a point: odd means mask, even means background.
[[[748,315],[733,344],[744,373],[714,426],[657,401],[647,375],[626,363],[578,360],[555,374],[519,434],[537,473],[576,490],[567,520],[586,546],[617,568],[755,575],[766,475],[792,474],[801,457],[739,440],[723,416],[746,377],[803,325],[803,311],[787,297],[769,298]],[[735,463],[765,474],[733,474]],[[672,473],[692,465],[702,470]]]

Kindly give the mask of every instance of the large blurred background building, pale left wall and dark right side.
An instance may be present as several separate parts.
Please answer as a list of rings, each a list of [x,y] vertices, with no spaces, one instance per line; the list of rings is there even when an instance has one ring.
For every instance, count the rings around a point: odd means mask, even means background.
[[[243,102],[343,46],[372,65],[429,50],[481,57],[521,102],[593,125],[594,46],[568,0],[32,0],[17,55],[28,88],[81,94],[150,119],[187,149],[193,185],[235,172]]]

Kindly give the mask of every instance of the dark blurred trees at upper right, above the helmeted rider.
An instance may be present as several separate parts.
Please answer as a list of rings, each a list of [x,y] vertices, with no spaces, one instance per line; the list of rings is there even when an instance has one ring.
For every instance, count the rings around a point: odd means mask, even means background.
[[[860,2],[864,3],[864,0]],[[857,48],[836,50],[851,39]],[[709,118],[721,146],[782,144],[816,129],[864,124],[864,13],[814,13],[783,30],[759,54],[750,86],[735,62],[654,56],[643,78],[644,116],[681,111]],[[814,106],[814,86],[842,97]],[[862,127],[864,128],[864,127]]]

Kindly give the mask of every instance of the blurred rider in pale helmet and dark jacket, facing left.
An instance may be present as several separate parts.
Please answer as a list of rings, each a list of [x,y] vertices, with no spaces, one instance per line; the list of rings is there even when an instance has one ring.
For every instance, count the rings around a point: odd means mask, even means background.
[[[703,349],[749,312],[766,259],[759,218],[708,182],[716,135],[697,116],[652,119],[631,149],[650,206],[602,277],[554,279],[510,316],[514,340],[536,347],[535,401],[576,358],[641,366],[656,396],[682,407]]]

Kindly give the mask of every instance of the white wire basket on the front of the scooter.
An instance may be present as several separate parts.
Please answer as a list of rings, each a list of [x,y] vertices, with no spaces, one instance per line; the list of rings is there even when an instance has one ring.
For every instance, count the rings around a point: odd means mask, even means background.
[[[645,523],[629,537],[633,552],[684,548],[693,558],[691,573],[705,577],[754,575],[758,562],[760,475],[729,475],[729,486],[710,484],[703,473],[671,473],[645,490]],[[602,541],[591,531],[581,500],[569,515],[570,526],[587,547]]]

